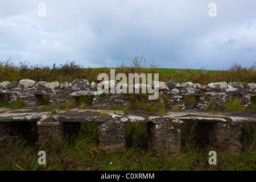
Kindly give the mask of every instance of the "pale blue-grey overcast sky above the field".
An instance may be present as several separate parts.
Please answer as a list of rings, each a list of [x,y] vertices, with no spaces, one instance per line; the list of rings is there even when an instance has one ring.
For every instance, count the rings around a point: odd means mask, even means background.
[[[0,61],[100,68],[144,56],[158,68],[250,68],[255,7],[255,0],[0,0]]]

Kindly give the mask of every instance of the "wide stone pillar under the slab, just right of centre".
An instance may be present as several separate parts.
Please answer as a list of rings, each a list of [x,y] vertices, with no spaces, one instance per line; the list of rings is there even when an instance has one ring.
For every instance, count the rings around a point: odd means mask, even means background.
[[[148,123],[148,135],[158,156],[176,155],[180,151],[182,123],[179,119]]]

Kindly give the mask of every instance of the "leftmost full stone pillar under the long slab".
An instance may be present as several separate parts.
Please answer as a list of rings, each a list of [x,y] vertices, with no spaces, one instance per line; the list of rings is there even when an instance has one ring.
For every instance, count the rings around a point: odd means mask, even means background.
[[[38,124],[38,145],[40,150],[56,150],[57,144],[64,140],[63,122],[41,119]]]

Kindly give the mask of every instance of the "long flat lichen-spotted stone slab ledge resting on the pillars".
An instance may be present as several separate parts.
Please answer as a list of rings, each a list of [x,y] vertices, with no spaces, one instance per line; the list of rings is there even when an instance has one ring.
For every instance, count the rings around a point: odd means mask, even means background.
[[[6,110],[2,109],[1,110]],[[34,108],[7,110],[0,114],[0,121],[39,121],[49,117],[59,122],[105,122],[110,118],[120,119],[121,122],[154,122],[163,119],[175,119],[181,121],[206,121],[206,122],[256,122],[256,112],[251,113],[214,113],[210,111],[168,111],[161,115],[159,112],[145,110],[104,110],[104,109],[71,109],[66,111],[57,110],[57,114],[51,115],[52,110],[37,110]]]

